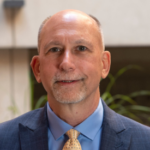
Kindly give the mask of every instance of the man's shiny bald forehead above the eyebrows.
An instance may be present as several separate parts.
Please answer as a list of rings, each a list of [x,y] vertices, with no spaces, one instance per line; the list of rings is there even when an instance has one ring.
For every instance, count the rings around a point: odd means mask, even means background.
[[[75,35],[89,40],[100,36],[98,26],[92,18],[68,13],[52,17],[45,23],[41,32],[41,44],[61,36],[73,38]]]

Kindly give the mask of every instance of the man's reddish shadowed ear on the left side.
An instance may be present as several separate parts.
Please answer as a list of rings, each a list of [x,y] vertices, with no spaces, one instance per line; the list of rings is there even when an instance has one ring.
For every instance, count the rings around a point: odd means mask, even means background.
[[[31,61],[30,65],[31,65],[32,71],[34,73],[34,76],[36,78],[36,81],[38,83],[40,83],[41,82],[41,77],[40,77],[40,60],[39,60],[39,56],[38,55],[34,56],[32,58],[32,61]]]

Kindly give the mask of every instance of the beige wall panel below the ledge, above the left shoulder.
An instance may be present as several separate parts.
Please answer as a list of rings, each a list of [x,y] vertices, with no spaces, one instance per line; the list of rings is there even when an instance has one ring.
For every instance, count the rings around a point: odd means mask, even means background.
[[[30,110],[28,50],[0,50],[0,122]]]

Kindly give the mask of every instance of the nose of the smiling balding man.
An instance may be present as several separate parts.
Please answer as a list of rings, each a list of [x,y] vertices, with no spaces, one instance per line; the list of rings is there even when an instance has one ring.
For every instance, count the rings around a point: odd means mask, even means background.
[[[59,69],[65,72],[71,72],[75,69],[73,54],[69,50],[65,50],[62,54]]]

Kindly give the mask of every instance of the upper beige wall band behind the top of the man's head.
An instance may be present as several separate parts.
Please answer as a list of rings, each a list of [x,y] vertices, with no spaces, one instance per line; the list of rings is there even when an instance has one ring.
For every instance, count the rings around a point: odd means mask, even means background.
[[[0,47],[36,47],[38,28],[47,16],[63,9],[78,9],[96,16],[102,24],[107,46],[150,45],[149,0],[25,0],[14,17],[12,43],[11,19],[0,0]],[[7,42],[6,42],[7,41]]]

